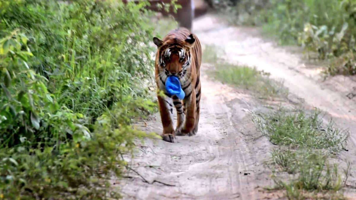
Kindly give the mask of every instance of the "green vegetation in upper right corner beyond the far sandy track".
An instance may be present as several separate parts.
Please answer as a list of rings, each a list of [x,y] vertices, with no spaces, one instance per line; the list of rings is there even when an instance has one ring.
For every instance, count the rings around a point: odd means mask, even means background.
[[[281,44],[298,43],[308,57],[328,59],[326,74],[356,74],[355,0],[240,0],[229,10],[235,24],[261,26]]]

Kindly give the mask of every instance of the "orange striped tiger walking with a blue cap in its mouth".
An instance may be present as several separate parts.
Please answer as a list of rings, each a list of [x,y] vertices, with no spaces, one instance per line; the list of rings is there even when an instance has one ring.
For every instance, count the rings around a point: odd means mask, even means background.
[[[198,132],[200,112],[200,64],[202,50],[198,37],[187,28],[171,30],[160,40],[153,37],[157,46],[155,79],[158,108],[161,115],[162,139],[174,143],[176,136],[193,136]],[[167,94],[167,77],[174,75],[185,93],[183,100]],[[162,90],[164,95],[159,95]],[[177,111],[177,125],[173,128],[173,105]]]

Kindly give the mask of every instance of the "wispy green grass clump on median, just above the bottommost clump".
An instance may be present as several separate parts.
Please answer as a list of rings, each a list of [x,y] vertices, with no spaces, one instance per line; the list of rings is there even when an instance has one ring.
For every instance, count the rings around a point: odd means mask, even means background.
[[[281,108],[271,114],[254,117],[253,121],[258,130],[276,145],[328,149],[330,152],[344,149],[349,132],[336,128],[333,121],[326,127],[321,126],[319,115],[319,110],[308,116],[302,109],[291,112]]]

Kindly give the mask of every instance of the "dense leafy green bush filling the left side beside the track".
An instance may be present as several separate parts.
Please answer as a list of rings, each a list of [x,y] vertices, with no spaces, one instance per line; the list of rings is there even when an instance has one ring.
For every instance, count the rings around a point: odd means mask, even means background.
[[[145,5],[0,0],[0,199],[120,197],[108,180],[148,136],[130,122],[155,109]]]

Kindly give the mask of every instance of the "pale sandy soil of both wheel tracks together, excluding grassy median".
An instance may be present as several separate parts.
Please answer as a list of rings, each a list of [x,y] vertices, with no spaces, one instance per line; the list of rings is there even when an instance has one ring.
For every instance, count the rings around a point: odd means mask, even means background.
[[[194,22],[194,33],[203,45],[215,44],[237,64],[256,66],[284,80],[291,94],[305,104],[319,107],[342,128],[349,128],[348,151],[342,158],[355,164],[356,82],[334,77],[321,81],[315,67],[308,67],[300,54],[263,40],[253,28],[229,27],[212,15]],[[278,193],[264,193],[272,185],[270,170],[263,164],[272,144],[255,130],[251,113],[263,107],[244,91],[211,81],[201,66],[201,120],[196,136],[177,137],[178,143],[147,140],[131,160],[132,168],[144,177],[117,180],[124,199],[278,199]],[[354,91],[356,94],[356,91]],[[157,114],[142,125],[143,130],[161,133]],[[354,168],[355,169],[355,168]],[[349,185],[355,185],[355,178]],[[259,187],[260,186],[260,187]],[[355,193],[353,193],[355,194]],[[350,192],[350,197],[352,192]]]

